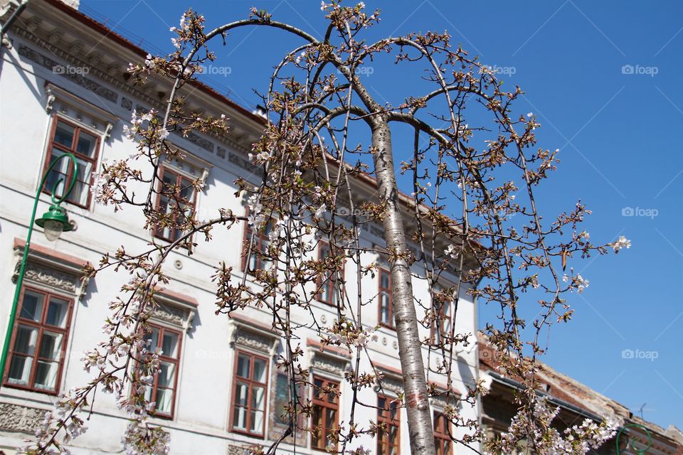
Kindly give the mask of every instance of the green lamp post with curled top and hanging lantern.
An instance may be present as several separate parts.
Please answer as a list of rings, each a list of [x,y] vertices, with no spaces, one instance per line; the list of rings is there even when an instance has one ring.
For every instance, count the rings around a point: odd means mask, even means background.
[[[52,203],[50,205],[50,208],[46,213],[43,214],[41,218],[38,218],[36,220],[36,209],[38,208],[38,200],[41,197],[41,193],[43,191],[43,186],[45,186],[45,182],[50,175],[50,172],[53,170],[55,165],[62,161],[63,159],[68,158],[71,160],[71,164],[73,165],[73,172],[71,174],[71,182],[69,183],[68,187],[65,187],[65,191],[63,192],[62,196],[57,197],[57,188],[60,186],[60,183],[64,181],[63,177],[58,178],[56,181],[55,185],[52,188]],[[48,167],[48,170],[46,171],[45,175],[43,176],[43,179],[41,180],[41,184],[38,186],[38,191],[36,192],[36,198],[33,200],[33,212],[31,213],[31,222],[28,223],[28,235],[26,236],[26,245],[23,246],[23,256],[21,257],[21,266],[19,267],[19,276],[16,279],[16,288],[14,290],[14,301],[12,301],[12,309],[9,314],[9,322],[7,323],[7,331],[5,333],[5,342],[4,345],[2,346],[2,356],[0,357],[0,378],[3,379],[3,381],[0,381],[0,387],[2,387],[2,384],[4,382],[4,377],[5,377],[5,366],[7,363],[7,355],[9,354],[9,344],[11,343],[11,338],[12,338],[12,332],[14,331],[14,320],[16,319],[16,309],[19,304],[19,296],[21,296],[21,284],[23,283],[23,274],[26,272],[26,260],[28,259],[28,250],[29,247],[31,246],[31,234],[33,233],[33,223],[35,222],[36,225],[40,226],[43,228],[45,232],[45,236],[47,239],[51,242],[54,242],[59,238],[59,236],[62,234],[62,232],[68,232],[70,230],[73,230],[73,225],[69,223],[69,218],[66,214],[66,210],[64,210],[60,204],[64,202],[66,198],[68,198],[69,194],[71,193],[71,190],[73,189],[74,184],[76,183],[76,175],[78,174],[78,163],[76,162],[75,156],[72,154],[63,154],[59,156],[55,161],[53,161],[50,166]],[[68,175],[68,174],[67,174]]]

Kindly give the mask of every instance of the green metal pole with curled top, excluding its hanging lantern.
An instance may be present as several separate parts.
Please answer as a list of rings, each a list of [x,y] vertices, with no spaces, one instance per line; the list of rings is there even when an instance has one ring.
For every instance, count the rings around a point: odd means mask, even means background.
[[[21,257],[21,266],[19,267],[19,276],[16,279],[16,288],[14,289],[14,300],[12,301],[12,309],[9,314],[9,322],[7,323],[7,330],[5,332],[5,342],[2,346],[2,356],[0,357],[0,373],[3,379],[2,381],[0,381],[0,387],[2,387],[2,385],[5,382],[5,366],[7,363],[7,355],[9,354],[9,344],[11,343],[12,333],[14,332],[14,321],[16,319],[16,309],[19,306],[19,296],[21,296],[21,284],[23,284],[23,274],[26,272],[26,259],[28,259],[28,248],[31,245],[33,223],[36,221],[36,209],[38,208],[38,200],[41,197],[43,186],[45,186],[45,181],[48,178],[48,175],[50,175],[50,171],[52,171],[52,169],[55,167],[55,164],[57,164],[63,158],[67,157],[71,159],[71,164],[73,164],[73,175],[71,176],[71,183],[67,188],[67,191],[65,191],[65,193],[63,194],[63,196],[61,196],[60,198],[56,198],[55,192],[57,191],[59,184],[64,180],[60,177],[52,189],[51,197],[52,202],[55,205],[59,205],[66,198],[68,198],[69,194],[71,193],[71,190],[73,189],[74,184],[76,183],[76,175],[78,174],[78,163],[76,162],[75,156],[73,156],[72,154],[63,154],[59,156],[58,159],[55,159],[55,161],[52,162],[50,167],[48,167],[48,170],[46,171],[45,175],[41,180],[40,186],[38,186],[36,198],[33,200],[33,212],[31,213],[31,223],[28,224],[28,235],[26,236],[26,245],[23,246],[23,255]]]

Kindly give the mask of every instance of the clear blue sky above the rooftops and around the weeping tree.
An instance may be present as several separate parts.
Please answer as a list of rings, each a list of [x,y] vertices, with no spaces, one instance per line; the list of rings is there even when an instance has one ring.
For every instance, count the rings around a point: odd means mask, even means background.
[[[169,27],[188,6],[205,14],[208,28],[244,18],[257,6],[316,36],[323,30],[317,0],[81,4],[86,14],[106,18],[136,43],[164,53],[171,50]],[[551,332],[544,361],[635,414],[644,405],[645,419],[683,429],[683,154],[677,139],[683,123],[683,4],[366,0],[366,5],[382,10],[382,22],[368,39],[445,30],[484,63],[500,68],[506,84],[526,91],[518,112],[538,115],[539,146],[561,149],[561,165],[539,193],[541,211],[552,218],[581,198],[593,210],[585,225],[591,240],[610,242],[620,234],[632,240],[630,250],[578,267],[590,287],[581,296],[573,294],[576,315]],[[214,44],[216,65],[231,69],[207,82],[254,105],[251,90],[265,90],[272,65],[297,42],[282,32],[259,30],[235,33],[225,48]],[[377,65],[366,83],[378,99],[397,104],[413,84],[412,75],[382,77],[384,63]],[[635,215],[624,216],[625,208]],[[482,321],[491,315],[482,309]],[[624,350],[632,350],[634,358],[624,358]]]

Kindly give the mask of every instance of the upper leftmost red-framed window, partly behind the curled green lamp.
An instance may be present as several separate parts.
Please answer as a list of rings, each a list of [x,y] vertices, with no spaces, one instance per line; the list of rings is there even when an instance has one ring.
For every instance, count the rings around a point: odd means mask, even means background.
[[[92,172],[95,171],[97,153],[100,149],[100,137],[91,134],[85,129],[78,127],[62,119],[53,117],[53,127],[48,144],[48,156],[45,169],[65,153],[75,156],[78,163],[78,172],[73,190],[67,200],[70,203],[83,208],[90,205],[90,186],[92,184]],[[61,160],[49,173],[45,181],[43,191],[52,193],[55,184],[62,178],[56,193],[65,191],[73,178],[73,166],[70,159]]]

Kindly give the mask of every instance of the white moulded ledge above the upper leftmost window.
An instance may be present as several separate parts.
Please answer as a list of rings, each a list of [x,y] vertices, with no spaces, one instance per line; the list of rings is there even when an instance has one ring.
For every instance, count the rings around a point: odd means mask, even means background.
[[[70,119],[78,120],[83,126],[97,130],[102,134],[105,141],[112,137],[112,129],[114,129],[114,124],[118,120],[118,117],[114,114],[82,100],[80,97],[67,92],[51,82],[45,85],[45,92],[45,112],[48,114],[53,112],[55,110],[55,102],[58,102],[61,105],[60,112],[68,114],[69,109],[73,111],[73,115],[69,116]],[[89,122],[85,122],[85,118],[88,118]]]

